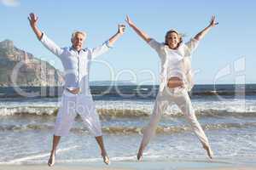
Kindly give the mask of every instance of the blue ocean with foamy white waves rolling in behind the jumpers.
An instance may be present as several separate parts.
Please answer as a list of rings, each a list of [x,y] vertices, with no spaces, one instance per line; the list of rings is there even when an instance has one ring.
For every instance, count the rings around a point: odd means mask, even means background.
[[[154,106],[158,86],[93,86],[91,93],[102,121],[112,161],[135,161]],[[0,164],[46,163],[63,88],[0,88]],[[26,95],[25,95],[26,94]],[[256,156],[256,84],[195,85],[189,94],[215,157]],[[183,113],[170,105],[145,160],[207,159]],[[56,162],[102,161],[96,140],[80,117],[61,138]]]

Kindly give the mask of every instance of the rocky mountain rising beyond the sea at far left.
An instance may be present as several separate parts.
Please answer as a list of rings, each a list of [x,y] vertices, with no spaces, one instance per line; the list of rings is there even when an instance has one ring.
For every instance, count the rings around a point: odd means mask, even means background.
[[[33,57],[14,42],[0,42],[0,87],[7,86],[61,86],[64,78],[48,62]]]

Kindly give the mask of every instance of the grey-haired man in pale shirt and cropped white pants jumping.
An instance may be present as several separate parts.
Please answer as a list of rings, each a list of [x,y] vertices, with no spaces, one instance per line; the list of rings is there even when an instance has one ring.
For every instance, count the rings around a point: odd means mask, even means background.
[[[49,167],[55,164],[57,145],[61,136],[67,136],[77,113],[89,128],[90,133],[96,137],[96,141],[102,151],[103,161],[108,165],[110,161],[103,144],[101,122],[90,94],[90,61],[96,56],[107,52],[108,48],[113,46],[113,43],[124,34],[125,25],[119,25],[118,32],[97,48],[83,48],[86,38],[86,34],[83,31],[73,32],[71,38],[72,47],[60,48],[44,32],[38,29],[38,16],[36,14],[30,14],[28,20],[38,40],[61,59],[65,70],[65,90],[55,121],[53,145],[48,161]]]

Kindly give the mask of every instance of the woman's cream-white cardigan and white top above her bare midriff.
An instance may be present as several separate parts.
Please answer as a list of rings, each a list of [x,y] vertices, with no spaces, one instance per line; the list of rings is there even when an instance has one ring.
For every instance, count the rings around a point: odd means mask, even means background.
[[[167,85],[171,77],[179,77],[190,91],[193,86],[193,73],[191,70],[191,54],[197,48],[199,41],[191,38],[189,42],[181,43],[177,49],[169,48],[165,43],[151,39],[148,44],[154,48],[161,59],[160,92]]]

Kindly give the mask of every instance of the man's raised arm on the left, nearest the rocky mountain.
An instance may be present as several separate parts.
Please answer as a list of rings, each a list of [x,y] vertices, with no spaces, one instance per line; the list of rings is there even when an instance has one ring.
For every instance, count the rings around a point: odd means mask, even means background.
[[[42,31],[38,29],[38,16],[31,13],[29,14],[28,20],[32,30],[35,32],[38,40],[44,44],[44,47],[48,48],[49,51],[51,51],[56,56],[61,57],[63,49],[61,49],[58,45],[55,44],[55,42],[50,40],[49,37],[47,37]]]

